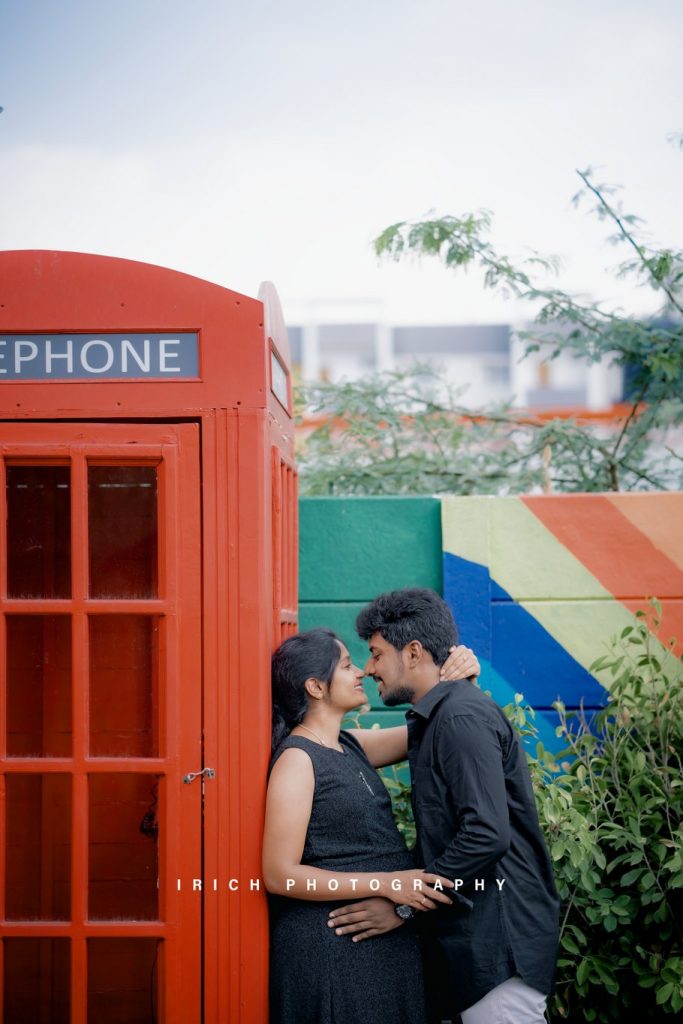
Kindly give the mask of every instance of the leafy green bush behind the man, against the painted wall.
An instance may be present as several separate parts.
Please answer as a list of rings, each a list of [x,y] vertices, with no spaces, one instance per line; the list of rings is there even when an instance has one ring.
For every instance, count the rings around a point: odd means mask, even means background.
[[[611,676],[607,706],[589,723],[556,705],[566,751],[529,756],[562,899],[550,1017],[659,1022],[683,1009],[683,672],[642,614],[591,670]],[[521,694],[505,711],[536,736]],[[408,786],[387,784],[410,842]]]

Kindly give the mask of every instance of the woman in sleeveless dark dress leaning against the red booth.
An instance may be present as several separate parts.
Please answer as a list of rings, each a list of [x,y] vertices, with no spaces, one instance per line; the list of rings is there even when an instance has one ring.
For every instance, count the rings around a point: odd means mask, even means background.
[[[478,669],[468,648],[452,648],[443,677]],[[424,1024],[420,951],[412,928],[401,926],[449,898],[429,888],[437,876],[414,865],[376,771],[405,759],[407,728],[341,729],[367,696],[361,670],[330,630],[278,648],[272,694],[263,840],[270,1024]],[[362,942],[335,935],[330,910],[368,897],[398,908],[395,928]]]

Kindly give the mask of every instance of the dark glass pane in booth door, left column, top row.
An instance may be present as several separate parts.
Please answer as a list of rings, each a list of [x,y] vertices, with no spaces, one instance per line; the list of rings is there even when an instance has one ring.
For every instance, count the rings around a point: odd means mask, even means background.
[[[7,593],[71,596],[69,466],[7,466]]]

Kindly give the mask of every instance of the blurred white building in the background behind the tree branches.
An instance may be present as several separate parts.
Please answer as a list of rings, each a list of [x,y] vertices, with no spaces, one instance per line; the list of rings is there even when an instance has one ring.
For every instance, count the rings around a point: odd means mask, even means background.
[[[581,407],[595,412],[620,401],[622,371],[570,355],[522,358],[525,342],[507,324],[402,326],[309,323],[288,329],[292,359],[303,380],[349,380],[428,362],[465,390],[472,409],[512,401],[520,408]]]

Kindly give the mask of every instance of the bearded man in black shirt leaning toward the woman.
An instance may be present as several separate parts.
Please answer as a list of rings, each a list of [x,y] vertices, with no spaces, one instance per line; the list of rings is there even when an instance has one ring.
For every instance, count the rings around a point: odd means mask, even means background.
[[[437,594],[382,594],[356,629],[369,641],[366,673],[383,702],[413,705],[405,717],[417,861],[458,887],[451,907],[420,914],[431,1018],[540,1024],[553,986],[559,899],[519,737],[476,686],[439,681],[458,634]],[[335,911],[332,927],[357,921],[352,911]],[[378,930],[375,921],[372,934]]]

